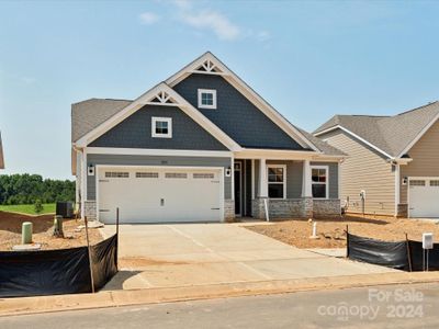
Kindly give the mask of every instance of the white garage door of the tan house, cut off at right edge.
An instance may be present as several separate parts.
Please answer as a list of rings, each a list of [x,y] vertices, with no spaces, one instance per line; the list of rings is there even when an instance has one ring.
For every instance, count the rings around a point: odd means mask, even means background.
[[[410,178],[408,182],[410,217],[439,217],[439,178]]]

